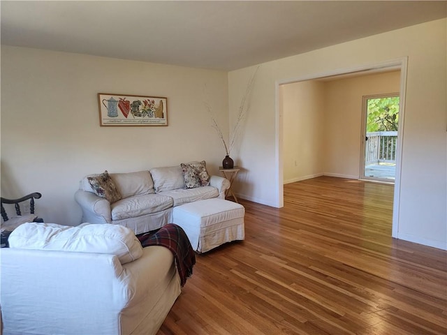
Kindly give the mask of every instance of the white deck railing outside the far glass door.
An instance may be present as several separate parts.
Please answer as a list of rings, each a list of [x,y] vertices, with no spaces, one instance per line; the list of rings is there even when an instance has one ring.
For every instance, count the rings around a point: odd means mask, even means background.
[[[395,163],[397,131],[366,133],[365,163]]]

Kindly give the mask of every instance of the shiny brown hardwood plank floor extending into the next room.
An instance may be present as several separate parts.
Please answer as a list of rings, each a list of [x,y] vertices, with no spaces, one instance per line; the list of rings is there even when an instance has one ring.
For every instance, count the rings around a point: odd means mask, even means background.
[[[392,239],[392,201],[333,177],[241,200],[245,240],[197,255],[158,334],[447,334],[447,252]]]

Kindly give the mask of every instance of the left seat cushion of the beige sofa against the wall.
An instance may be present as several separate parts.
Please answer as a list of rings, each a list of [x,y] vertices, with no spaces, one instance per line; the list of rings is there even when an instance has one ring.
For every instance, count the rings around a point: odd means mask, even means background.
[[[134,195],[112,204],[112,220],[135,218],[173,207],[173,198],[160,194]]]

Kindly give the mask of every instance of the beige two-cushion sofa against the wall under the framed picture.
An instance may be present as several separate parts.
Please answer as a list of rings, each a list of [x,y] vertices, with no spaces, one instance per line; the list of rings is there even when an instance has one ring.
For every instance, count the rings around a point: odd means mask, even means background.
[[[173,208],[176,206],[211,198],[225,199],[230,181],[223,177],[209,175],[208,186],[191,187],[194,185],[188,180],[188,168],[201,166],[203,169],[204,163],[190,162],[186,168],[182,164],[139,172],[110,173],[121,195],[121,199],[114,202],[95,193],[89,177],[97,177],[98,174],[90,174],[80,181],[80,188],[75,193],[75,200],[82,209],[82,222],[123,225],[140,234],[173,223]]]

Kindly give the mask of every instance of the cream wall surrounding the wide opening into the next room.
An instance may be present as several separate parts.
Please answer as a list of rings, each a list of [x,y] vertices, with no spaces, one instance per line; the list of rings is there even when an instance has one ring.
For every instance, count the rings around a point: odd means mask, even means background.
[[[239,155],[241,198],[281,205],[282,117],[277,85],[408,57],[397,236],[447,248],[446,19],[333,45],[261,65]],[[254,67],[228,75],[231,115]],[[281,136],[279,136],[281,135]]]

